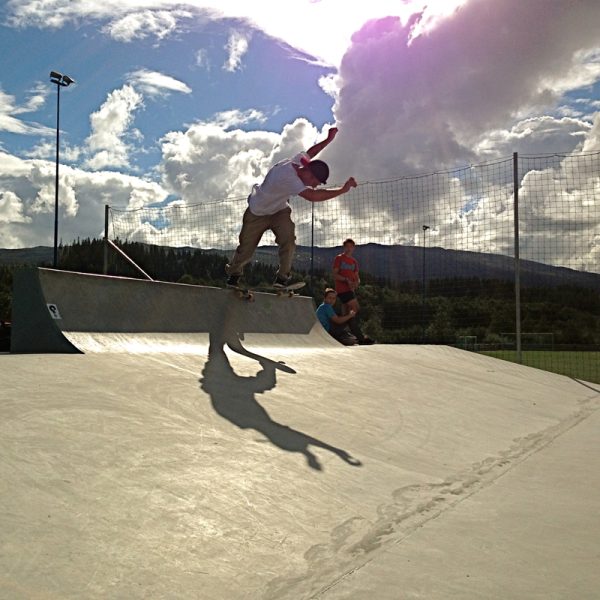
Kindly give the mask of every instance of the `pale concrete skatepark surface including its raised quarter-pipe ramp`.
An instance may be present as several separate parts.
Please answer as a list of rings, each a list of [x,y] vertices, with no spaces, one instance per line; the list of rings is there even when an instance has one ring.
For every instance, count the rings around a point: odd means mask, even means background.
[[[39,269],[0,355],[0,598],[598,597],[600,388],[344,347],[312,299]]]

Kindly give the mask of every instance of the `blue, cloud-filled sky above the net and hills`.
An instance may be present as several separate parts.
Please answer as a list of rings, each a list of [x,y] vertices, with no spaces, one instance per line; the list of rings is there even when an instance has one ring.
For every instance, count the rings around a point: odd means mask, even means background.
[[[75,80],[60,95],[65,242],[100,236],[106,203],[244,197],[334,125],[331,183],[600,150],[597,0],[359,4],[4,1],[0,247],[53,243],[50,71]]]

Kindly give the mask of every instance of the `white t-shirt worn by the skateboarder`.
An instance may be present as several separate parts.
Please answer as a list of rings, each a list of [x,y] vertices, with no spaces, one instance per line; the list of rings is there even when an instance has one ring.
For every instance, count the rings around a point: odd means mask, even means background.
[[[255,184],[248,205],[250,212],[257,216],[274,215],[290,204],[290,196],[303,192],[308,186],[302,183],[294,165],[301,166],[301,159],[310,160],[306,152],[296,154],[294,158],[286,158],[272,166],[261,184]]]

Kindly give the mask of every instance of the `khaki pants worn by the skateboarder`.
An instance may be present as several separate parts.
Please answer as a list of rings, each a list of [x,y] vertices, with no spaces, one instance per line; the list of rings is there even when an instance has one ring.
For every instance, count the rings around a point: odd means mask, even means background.
[[[291,214],[291,208],[284,208],[274,215],[257,216],[247,208],[242,219],[240,243],[225,269],[227,274],[242,274],[244,266],[252,260],[263,233],[270,229],[275,234],[275,242],[279,246],[277,274],[287,277],[292,270],[292,260],[296,250],[296,228]]]

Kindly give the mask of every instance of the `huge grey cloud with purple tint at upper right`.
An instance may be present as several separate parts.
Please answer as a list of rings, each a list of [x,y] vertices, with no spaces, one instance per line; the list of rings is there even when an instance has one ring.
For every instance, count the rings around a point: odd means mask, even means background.
[[[473,162],[490,132],[597,77],[594,0],[470,0],[426,35],[419,23],[371,21],[342,61],[332,156],[358,177]]]

